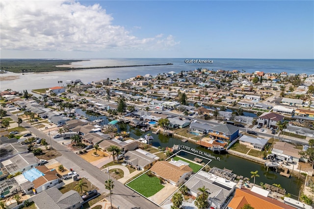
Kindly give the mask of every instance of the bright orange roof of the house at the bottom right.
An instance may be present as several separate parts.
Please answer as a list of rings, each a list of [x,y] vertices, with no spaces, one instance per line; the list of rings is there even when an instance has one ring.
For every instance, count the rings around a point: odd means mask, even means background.
[[[227,209],[241,209],[245,204],[250,204],[255,209],[294,209],[274,198],[262,196],[246,188],[235,189],[235,195]]]

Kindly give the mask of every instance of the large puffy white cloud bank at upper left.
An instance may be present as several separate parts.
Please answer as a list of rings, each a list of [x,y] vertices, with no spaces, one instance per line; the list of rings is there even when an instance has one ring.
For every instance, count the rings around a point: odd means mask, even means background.
[[[140,39],[123,26],[112,25],[113,17],[99,4],[4,0],[0,2],[0,9],[1,50],[165,50],[180,44],[172,35],[163,38],[163,34],[157,34]]]

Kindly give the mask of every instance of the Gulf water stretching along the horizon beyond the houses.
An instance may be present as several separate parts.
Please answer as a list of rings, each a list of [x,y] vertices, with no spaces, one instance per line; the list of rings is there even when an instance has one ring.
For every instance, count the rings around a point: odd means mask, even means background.
[[[228,58],[86,58],[88,61],[75,62],[75,67],[100,67],[100,66],[126,66],[146,64],[166,64],[163,66],[142,66],[124,68],[100,68],[73,71],[56,71],[49,73],[7,73],[0,77],[15,76],[16,79],[1,79],[0,90],[14,89],[16,91],[48,88],[58,86],[58,81],[81,79],[84,83],[101,79],[127,79],[137,75],[168,73],[174,71],[189,71],[197,68],[209,70],[238,70],[240,72],[253,73],[263,71],[265,73],[287,72],[308,75],[314,74],[314,59],[228,59]],[[185,60],[192,60],[186,63]],[[197,63],[194,61],[197,60]],[[198,63],[198,60],[212,60],[212,63]]]

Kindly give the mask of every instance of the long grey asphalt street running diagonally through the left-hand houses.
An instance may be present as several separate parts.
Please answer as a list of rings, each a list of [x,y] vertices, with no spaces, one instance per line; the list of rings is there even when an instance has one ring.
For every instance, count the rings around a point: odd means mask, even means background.
[[[17,121],[16,115],[13,115],[10,112],[7,112],[7,115],[10,116],[10,118],[12,118],[14,121]],[[37,130],[26,122],[23,122],[21,126],[40,138],[49,139],[49,135]],[[107,174],[105,174],[103,171],[90,164],[83,158],[78,157],[77,154],[69,151],[65,146],[55,142],[54,140],[51,141],[52,148],[62,154],[62,157],[58,157],[58,160],[61,160],[61,164],[65,165],[65,167],[68,168],[74,168],[81,177],[86,176],[92,184],[100,188],[101,192],[105,191],[106,193],[109,193],[109,191],[105,189],[104,185],[105,181],[108,180]],[[49,142],[49,140],[47,140],[47,142]],[[111,195],[111,198],[112,204],[115,206],[120,206],[120,209],[159,208],[157,205],[153,204],[146,198],[140,196],[139,194],[118,181],[114,181],[113,194]],[[109,199],[109,197],[107,197],[107,199]]]

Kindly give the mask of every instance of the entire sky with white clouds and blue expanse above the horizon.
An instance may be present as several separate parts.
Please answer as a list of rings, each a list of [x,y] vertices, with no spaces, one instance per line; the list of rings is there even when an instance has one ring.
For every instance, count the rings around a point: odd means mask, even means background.
[[[314,1],[0,1],[0,58],[314,59]]]

